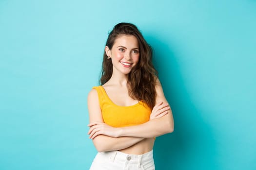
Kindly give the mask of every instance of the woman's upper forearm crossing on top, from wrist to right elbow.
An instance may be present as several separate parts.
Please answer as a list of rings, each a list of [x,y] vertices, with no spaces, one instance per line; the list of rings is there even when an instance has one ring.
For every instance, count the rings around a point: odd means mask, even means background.
[[[118,136],[132,137],[157,137],[173,132],[174,122],[171,114],[167,114],[158,119],[152,119],[146,123],[120,128]]]

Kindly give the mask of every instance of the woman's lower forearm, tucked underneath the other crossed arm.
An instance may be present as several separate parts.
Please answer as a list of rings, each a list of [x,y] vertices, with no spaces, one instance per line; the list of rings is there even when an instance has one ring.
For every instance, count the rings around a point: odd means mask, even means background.
[[[93,139],[93,143],[98,152],[106,152],[128,148],[143,139],[142,137],[110,137],[98,135]]]

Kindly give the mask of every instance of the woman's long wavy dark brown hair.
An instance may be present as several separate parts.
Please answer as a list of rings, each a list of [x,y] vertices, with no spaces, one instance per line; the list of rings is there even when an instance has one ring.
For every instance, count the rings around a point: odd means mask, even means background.
[[[152,109],[156,103],[156,80],[158,77],[158,72],[152,63],[153,50],[138,28],[131,23],[118,23],[109,33],[106,46],[110,50],[120,35],[135,36],[139,45],[138,64],[128,74],[129,96],[134,100],[145,102]],[[111,78],[112,72],[112,61],[107,59],[107,54],[104,51],[100,85],[104,85]]]

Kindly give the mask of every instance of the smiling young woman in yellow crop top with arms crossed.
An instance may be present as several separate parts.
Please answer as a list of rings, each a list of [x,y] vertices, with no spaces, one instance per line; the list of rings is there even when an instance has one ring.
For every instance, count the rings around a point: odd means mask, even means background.
[[[138,28],[110,32],[99,86],[88,94],[88,135],[98,150],[90,170],[155,170],[155,137],[174,130],[172,111]]]

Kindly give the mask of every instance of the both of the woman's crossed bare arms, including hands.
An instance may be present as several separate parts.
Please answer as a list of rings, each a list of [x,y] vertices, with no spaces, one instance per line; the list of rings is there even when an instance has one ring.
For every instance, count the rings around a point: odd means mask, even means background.
[[[128,148],[144,138],[152,138],[174,130],[171,108],[165,99],[160,82],[156,85],[157,98],[150,120],[143,124],[115,128],[104,123],[98,102],[98,94],[92,89],[88,94],[90,138],[98,152],[114,151]]]

